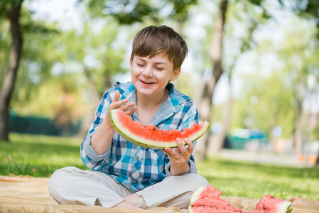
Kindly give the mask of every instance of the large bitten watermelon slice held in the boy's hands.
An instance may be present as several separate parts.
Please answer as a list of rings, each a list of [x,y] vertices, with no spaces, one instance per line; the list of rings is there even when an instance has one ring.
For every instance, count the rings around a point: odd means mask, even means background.
[[[184,139],[189,138],[190,141],[196,141],[208,129],[210,123],[205,121],[201,125],[193,124],[190,128],[179,130],[162,130],[156,126],[147,125],[143,126],[139,121],[133,121],[131,116],[125,114],[120,109],[112,109],[110,118],[115,131],[127,141],[134,143],[138,146],[153,149],[163,149],[166,147],[178,147],[176,138]]]

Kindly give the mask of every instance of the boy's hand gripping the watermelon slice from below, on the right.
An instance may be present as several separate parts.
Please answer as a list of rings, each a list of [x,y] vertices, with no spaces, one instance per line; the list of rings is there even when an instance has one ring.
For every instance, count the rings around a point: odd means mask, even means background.
[[[190,155],[192,155],[194,150],[194,144],[188,138],[185,138],[185,143],[188,145],[188,148],[184,146],[180,138],[176,139],[176,143],[178,144],[178,148],[173,150],[172,148],[166,147],[163,149],[163,152],[170,158],[171,165],[183,165],[190,159]]]

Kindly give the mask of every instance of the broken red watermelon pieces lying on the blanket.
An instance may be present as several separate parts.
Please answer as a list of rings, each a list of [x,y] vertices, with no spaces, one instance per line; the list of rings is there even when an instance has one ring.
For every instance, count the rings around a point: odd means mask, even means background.
[[[214,186],[198,187],[190,198],[190,213],[209,213],[209,212],[246,212],[242,209],[237,209],[228,201],[220,199],[222,192],[215,189]],[[291,212],[289,207],[291,202],[281,200],[270,195],[265,195],[256,208],[246,213],[286,213]]]

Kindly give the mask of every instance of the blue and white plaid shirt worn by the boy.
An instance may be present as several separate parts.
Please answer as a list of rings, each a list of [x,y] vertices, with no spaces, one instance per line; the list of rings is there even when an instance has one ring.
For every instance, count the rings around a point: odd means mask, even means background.
[[[198,123],[198,110],[193,100],[174,89],[171,83],[166,89],[171,91],[168,99],[151,119],[150,124],[163,130],[182,130]],[[106,153],[97,155],[94,152],[90,146],[91,136],[105,118],[116,90],[121,93],[121,99],[128,98],[129,102],[136,102],[136,89],[131,82],[117,82],[105,92],[95,112],[89,133],[82,141],[81,158],[88,168],[107,173],[132,192],[136,192],[170,176],[171,163],[163,151],[136,146],[121,138],[117,132],[114,133],[112,144]],[[132,119],[139,120],[136,112]],[[192,155],[188,160],[190,173],[197,172],[193,157]]]

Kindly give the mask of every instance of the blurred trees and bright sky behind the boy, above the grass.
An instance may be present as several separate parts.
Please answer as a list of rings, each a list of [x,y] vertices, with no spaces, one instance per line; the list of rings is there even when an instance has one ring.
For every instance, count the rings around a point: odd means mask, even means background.
[[[0,143],[82,141],[130,80],[134,35],[163,24],[189,48],[174,83],[211,124],[195,158],[318,163],[318,0],[1,0]]]

